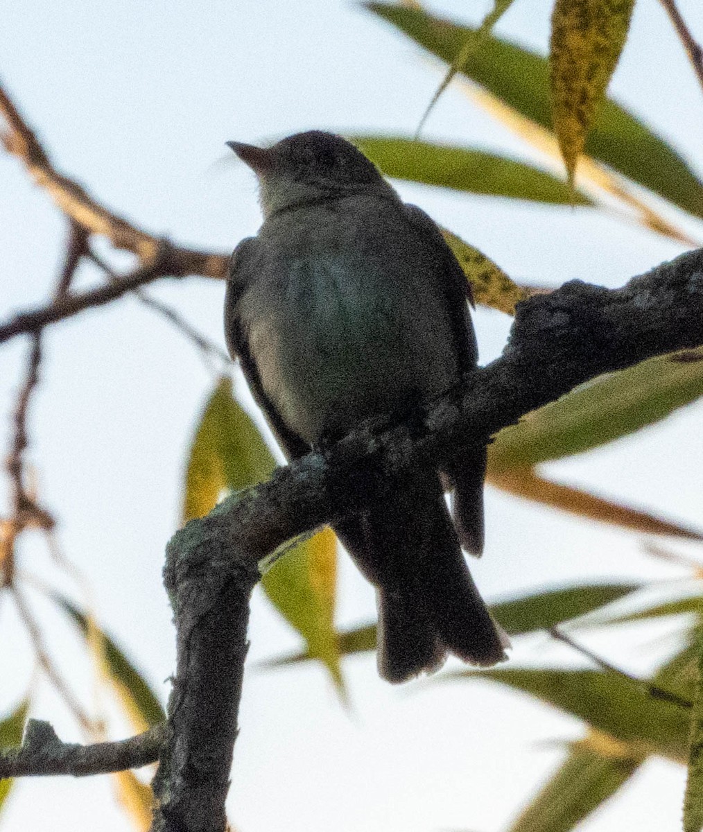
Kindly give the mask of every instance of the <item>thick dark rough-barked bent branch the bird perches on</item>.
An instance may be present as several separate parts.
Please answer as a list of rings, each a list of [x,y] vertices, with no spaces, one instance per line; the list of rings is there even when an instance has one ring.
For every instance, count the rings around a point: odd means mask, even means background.
[[[502,356],[403,423],[368,423],[189,522],[166,549],[176,676],[155,780],[155,832],[224,832],[259,564],[291,537],[374,503],[595,376],[703,344],[703,250],[618,290],[580,281],[517,306]],[[701,360],[699,354],[686,354]]]

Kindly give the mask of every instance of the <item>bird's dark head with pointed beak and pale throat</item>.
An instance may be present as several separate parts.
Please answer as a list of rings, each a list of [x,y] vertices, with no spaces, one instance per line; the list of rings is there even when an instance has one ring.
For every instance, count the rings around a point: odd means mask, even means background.
[[[227,144],[255,172],[264,215],[327,196],[393,193],[374,163],[333,133],[295,133],[270,147]]]

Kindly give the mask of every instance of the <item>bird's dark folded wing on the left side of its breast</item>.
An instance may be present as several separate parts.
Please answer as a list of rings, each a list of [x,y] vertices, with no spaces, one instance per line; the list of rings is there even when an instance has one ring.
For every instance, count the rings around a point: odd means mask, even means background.
[[[286,457],[295,459],[308,453],[309,445],[284,423],[266,396],[259,377],[259,370],[249,350],[245,327],[242,326],[239,315],[240,297],[250,281],[256,279],[256,245],[259,244],[255,237],[246,237],[237,245],[230,260],[227,289],[225,291],[225,341],[231,357],[240,359],[241,369],[244,372],[247,384],[249,384],[251,394],[254,396],[256,404],[264,411],[266,420],[275,433],[275,437],[283,448]]]

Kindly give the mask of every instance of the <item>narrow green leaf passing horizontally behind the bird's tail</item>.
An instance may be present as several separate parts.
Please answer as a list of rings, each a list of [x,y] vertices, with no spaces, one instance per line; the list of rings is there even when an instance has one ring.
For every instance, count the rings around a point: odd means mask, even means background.
[[[636,583],[594,583],[575,587],[558,587],[542,590],[529,595],[509,598],[491,605],[490,610],[509,636],[519,636],[533,630],[548,630],[549,627],[587,612],[603,607],[619,598],[635,592]],[[339,652],[343,656],[376,649],[376,627],[374,624],[354,627],[339,633]],[[309,652],[296,653],[267,661],[266,665],[277,666],[313,658]]]

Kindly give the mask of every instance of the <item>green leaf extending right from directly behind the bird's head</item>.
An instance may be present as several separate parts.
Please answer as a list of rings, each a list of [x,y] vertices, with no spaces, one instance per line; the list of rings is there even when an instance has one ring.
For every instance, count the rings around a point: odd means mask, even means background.
[[[551,173],[505,156],[400,136],[350,136],[349,141],[394,179],[556,205],[592,205]]]

